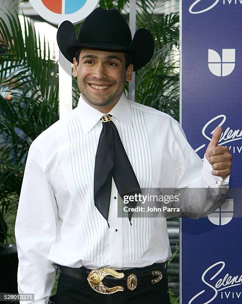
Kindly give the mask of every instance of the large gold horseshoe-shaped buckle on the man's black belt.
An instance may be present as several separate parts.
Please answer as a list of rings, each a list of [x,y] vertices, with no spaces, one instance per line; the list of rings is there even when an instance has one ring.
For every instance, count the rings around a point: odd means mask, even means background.
[[[92,270],[87,277],[87,281],[88,281],[89,285],[91,286],[91,288],[100,294],[110,295],[110,294],[117,293],[119,291],[124,291],[124,287],[122,287],[122,286],[115,286],[115,287],[111,287],[111,288],[105,286],[103,284],[102,280],[106,276],[113,276],[116,279],[121,279],[124,277],[124,273],[115,271],[114,269],[111,269],[111,268],[103,267],[100,269]]]

